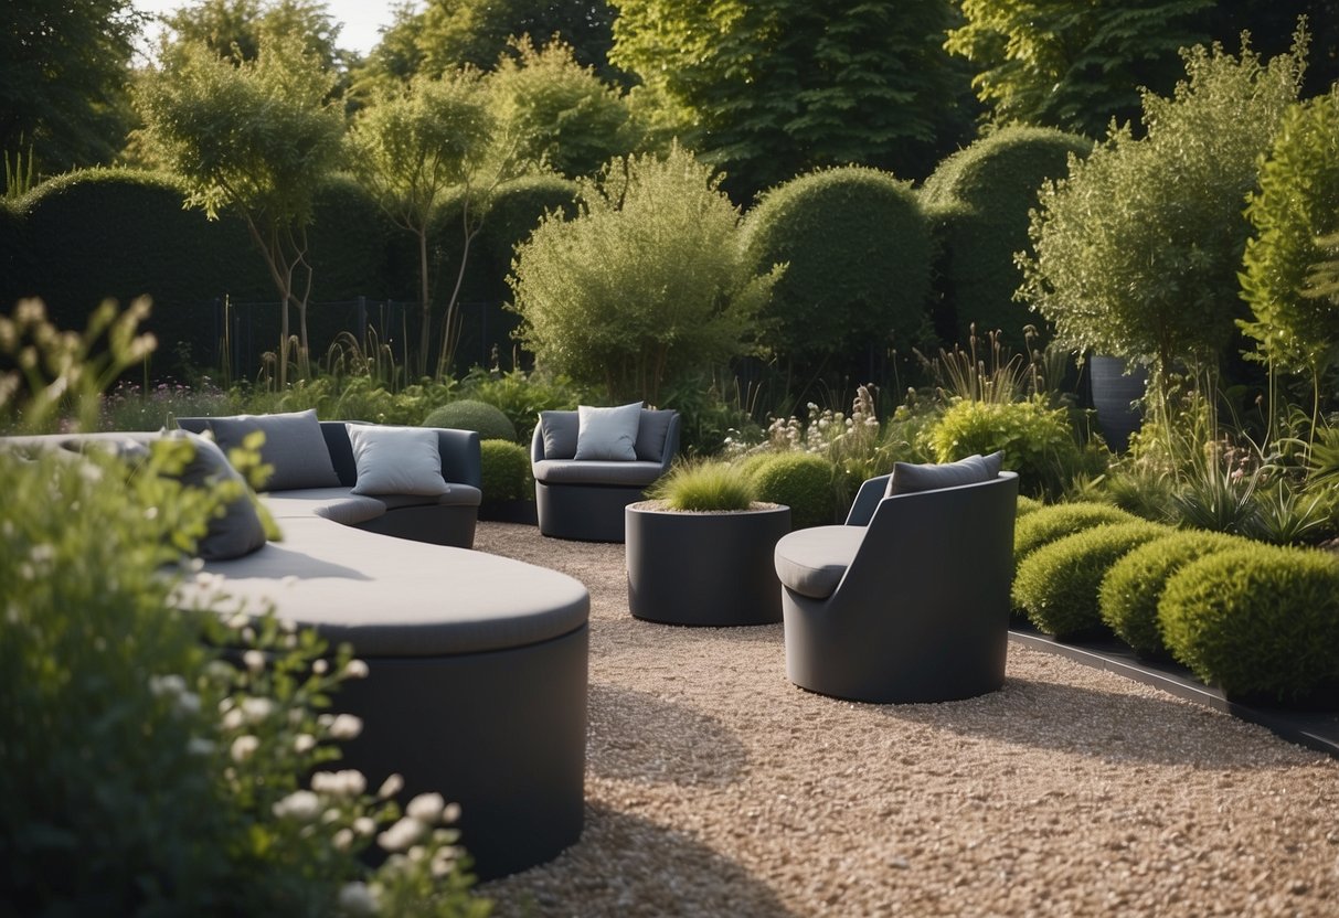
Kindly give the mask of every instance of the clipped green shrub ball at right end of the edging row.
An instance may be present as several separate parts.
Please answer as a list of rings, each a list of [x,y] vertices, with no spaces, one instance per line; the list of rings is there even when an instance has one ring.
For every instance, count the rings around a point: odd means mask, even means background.
[[[1172,653],[1229,696],[1304,697],[1339,678],[1339,559],[1249,546],[1182,567],[1158,604]]]

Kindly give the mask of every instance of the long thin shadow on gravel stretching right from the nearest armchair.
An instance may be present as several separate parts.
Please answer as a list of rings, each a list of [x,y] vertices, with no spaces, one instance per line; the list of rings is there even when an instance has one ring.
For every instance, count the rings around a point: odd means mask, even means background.
[[[881,709],[964,736],[1113,761],[1259,768],[1260,745],[1275,743],[1263,729],[1198,705],[1012,677],[999,692],[965,701]],[[1239,736],[1224,743],[1225,731]]]

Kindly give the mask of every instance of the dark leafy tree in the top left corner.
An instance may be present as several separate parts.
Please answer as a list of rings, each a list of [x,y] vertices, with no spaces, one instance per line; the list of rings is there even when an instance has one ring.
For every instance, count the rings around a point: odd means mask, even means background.
[[[145,16],[130,0],[21,0],[0,29],[0,150],[32,150],[39,174],[115,158],[125,86]]]

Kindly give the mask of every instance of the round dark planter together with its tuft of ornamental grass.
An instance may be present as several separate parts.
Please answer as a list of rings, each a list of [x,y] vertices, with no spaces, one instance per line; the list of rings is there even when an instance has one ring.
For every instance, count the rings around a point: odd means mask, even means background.
[[[675,625],[765,625],[781,621],[777,539],[790,509],[757,500],[738,466],[675,466],[625,510],[628,609]]]

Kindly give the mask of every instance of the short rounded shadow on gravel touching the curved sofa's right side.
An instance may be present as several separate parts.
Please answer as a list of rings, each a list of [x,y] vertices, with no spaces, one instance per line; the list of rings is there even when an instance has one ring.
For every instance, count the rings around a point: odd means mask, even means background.
[[[601,777],[724,787],[747,752],[715,717],[647,692],[590,685],[586,768]]]

